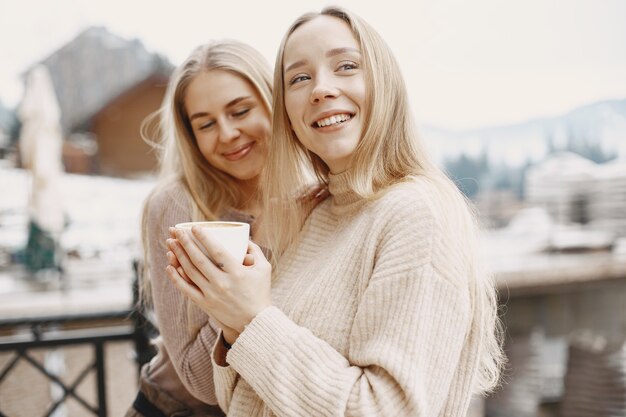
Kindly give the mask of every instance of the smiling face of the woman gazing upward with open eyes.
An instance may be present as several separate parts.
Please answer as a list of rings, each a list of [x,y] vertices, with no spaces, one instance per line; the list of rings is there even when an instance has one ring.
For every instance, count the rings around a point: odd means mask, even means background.
[[[332,173],[344,171],[361,139],[366,88],[350,26],[318,16],[297,28],[283,54],[285,108],[305,148]]]

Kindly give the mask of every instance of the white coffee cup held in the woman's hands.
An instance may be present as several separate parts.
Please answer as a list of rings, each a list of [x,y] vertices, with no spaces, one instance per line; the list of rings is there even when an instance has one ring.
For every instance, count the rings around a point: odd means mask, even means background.
[[[250,225],[248,223],[222,221],[187,222],[178,223],[174,226],[176,229],[182,230],[191,236],[202,252],[209,256],[204,249],[204,245],[191,232],[193,226],[201,227],[202,233],[206,233],[214,240],[217,240],[237,262],[243,263],[243,259],[248,251],[248,240],[250,238]]]

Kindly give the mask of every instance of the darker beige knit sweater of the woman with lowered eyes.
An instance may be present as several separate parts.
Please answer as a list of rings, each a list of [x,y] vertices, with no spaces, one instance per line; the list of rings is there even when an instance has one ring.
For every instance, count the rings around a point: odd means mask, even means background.
[[[168,228],[191,220],[188,192],[179,182],[155,193],[148,210],[149,274],[160,337],[158,352],[150,362],[150,380],[174,399],[194,411],[205,404],[215,405],[215,388],[210,350],[218,327],[200,309],[191,305],[173,286],[165,273],[168,265],[165,241]],[[230,211],[224,219],[251,221],[251,217]]]

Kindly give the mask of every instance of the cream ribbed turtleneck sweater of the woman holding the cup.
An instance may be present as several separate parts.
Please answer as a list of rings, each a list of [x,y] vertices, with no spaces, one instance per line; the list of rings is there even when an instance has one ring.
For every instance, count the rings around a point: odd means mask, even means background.
[[[463,237],[425,179],[362,202],[331,176],[263,310],[219,366],[229,416],[465,416],[475,391],[480,311]]]

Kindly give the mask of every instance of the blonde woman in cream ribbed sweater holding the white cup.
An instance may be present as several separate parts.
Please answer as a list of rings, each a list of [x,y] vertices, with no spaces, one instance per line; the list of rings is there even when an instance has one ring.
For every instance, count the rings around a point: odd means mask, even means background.
[[[168,276],[227,330],[213,350],[220,406],[464,416],[498,381],[494,284],[468,204],[415,133],[389,48],[346,10],[306,14],[274,85],[263,177],[273,265],[254,243],[254,264],[239,265],[201,230],[210,258],[187,235],[168,240]],[[331,196],[306,216],[291,195],[310,172]]]

